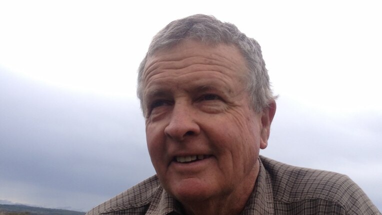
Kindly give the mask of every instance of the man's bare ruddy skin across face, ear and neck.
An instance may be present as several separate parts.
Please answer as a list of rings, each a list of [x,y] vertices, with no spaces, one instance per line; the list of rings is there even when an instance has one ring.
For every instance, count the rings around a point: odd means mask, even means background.
[[[164,189],[186,214],[238,214],[257,178],[275,112],[255,112],[247,68],[234,45],[186,40],[148,58],[143,73],[146,140]],[[204,155],[180,163],[176,156]]]

